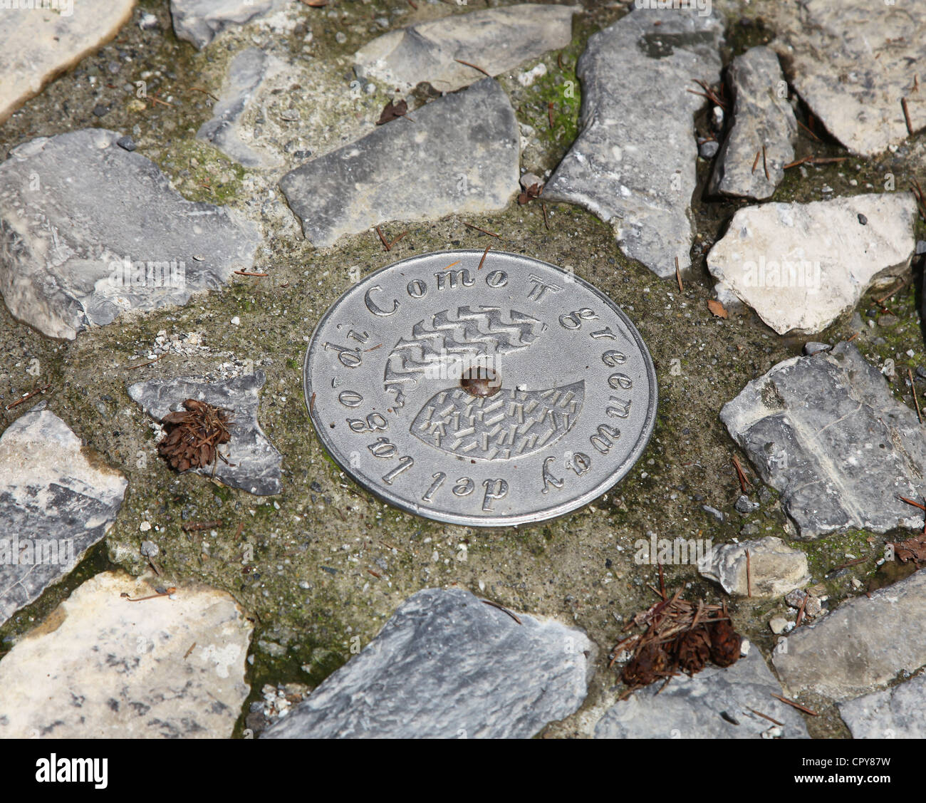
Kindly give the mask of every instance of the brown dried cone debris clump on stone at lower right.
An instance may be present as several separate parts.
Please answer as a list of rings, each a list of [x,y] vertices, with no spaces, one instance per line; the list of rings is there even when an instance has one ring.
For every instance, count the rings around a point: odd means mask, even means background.
[[[742,639],[733,630],[726,608],[704,602],[695,605],[680,599],[679,593],[636,614],[624,630],[645,627],[644,632],[614,647],[612,665],[621,652],[631,653],[620,675],[631,688],[670,678],[679,671],[693,675],[707,666],[708,659],[720,667],[739,659]]]

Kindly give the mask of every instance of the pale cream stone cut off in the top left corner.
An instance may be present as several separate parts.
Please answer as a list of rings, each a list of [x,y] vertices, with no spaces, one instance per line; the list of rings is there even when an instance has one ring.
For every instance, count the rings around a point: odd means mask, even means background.
[[[57,8],[3,6],[0,123],[45,83],[112,39],[131,18],[135,0],[62,0]]]

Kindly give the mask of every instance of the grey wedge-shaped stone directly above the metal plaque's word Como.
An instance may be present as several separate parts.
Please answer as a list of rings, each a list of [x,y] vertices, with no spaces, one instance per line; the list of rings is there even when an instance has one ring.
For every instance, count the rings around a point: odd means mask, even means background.
[[[280,181],[307,239],[389,220],[433,220],[507,206],[518,191],[519,130],[507,94],[490,78],[311,159]]]

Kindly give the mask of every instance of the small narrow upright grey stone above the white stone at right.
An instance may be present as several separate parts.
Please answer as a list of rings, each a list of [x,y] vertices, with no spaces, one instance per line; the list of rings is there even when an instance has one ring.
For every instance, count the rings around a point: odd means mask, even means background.
[[[784,178],[784,165],[795,160],[797,138],[797,120],[778,56],[768,47],[752,47],[733,59],[729,79],[733,125],[720,148],[710,192],[769,198]],[[765,152],[754,170],[757,150],[763,146]]]

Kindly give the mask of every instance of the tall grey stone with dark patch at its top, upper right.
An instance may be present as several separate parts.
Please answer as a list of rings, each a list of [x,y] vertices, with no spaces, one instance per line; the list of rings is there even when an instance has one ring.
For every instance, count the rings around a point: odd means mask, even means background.
[[[695,9],[636,8],[595,33],[577,66],[582,132],[544,188],[545,200],[605,220],[621,250],[658,276],[675,275],[676,257],[689,267],[704,99],[687,90],[719,80],[722,31]]]

